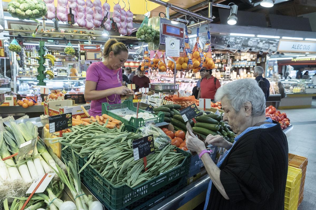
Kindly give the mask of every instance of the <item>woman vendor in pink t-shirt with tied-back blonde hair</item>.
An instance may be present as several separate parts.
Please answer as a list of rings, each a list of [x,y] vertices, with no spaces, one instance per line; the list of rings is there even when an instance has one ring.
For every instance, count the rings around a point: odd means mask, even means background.
[[[134,92],[122,85],[122,69],[128,57],[125,44],[109,39],[103,50],[103,61],[92,63],[87,70],[84,98],[91,101],[89,115],[102,113],[102,103],[121,103],[121,95]]]

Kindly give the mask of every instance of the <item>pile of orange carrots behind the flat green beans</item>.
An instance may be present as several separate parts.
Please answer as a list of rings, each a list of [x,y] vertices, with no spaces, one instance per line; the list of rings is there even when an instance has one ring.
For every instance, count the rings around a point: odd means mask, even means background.
[[[106,114],[103,114],[102,116],[90,116],[90,118],[81,118],[79,115],[76,116],[76,118],[72,117],[72,126],[75,125],[90,125],[92,124],[92,122],[96,122],[100,125],[104,125],[104,123],[106,123],[107,119],[109,119],[109,122],[107,122],[106,128],[120,128],[122,125],[122,122],[111,117],[108,116]],[[46,124],[45,127],[47,129],[49,129],[49,124]],[[69,133],[71,132],[70,129],[65,129],[63,130],[63,133]]]

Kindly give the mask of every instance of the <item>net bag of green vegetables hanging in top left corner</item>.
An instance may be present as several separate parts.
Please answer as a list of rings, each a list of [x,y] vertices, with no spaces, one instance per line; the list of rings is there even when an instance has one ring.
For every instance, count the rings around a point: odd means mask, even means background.
[[[12,0],[8,4],[8,12],[21,20],[37,19],[46,15],[47,6],[43,0]]]

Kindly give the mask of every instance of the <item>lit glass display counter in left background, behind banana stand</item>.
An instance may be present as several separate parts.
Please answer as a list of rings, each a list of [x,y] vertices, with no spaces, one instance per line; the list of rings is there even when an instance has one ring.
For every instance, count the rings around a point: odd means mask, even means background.
[[[73,80],[68,77],[55,77],[52,80],[46,79],[44,82],[46,82],[48,88],[70,91],[74,88],[83,88],[85,79]],[[40,94],[40,87],[36,77],[17,77],[16,88],[18,94]]]

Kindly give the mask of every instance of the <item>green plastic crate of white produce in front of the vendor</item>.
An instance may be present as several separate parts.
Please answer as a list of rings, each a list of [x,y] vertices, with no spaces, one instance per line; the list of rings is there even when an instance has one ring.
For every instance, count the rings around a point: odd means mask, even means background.
[[[146,124],[146,122],[164,122],[165,120],[165,113],[163,112],[159,112],[158,116],[155,118],[151,118],[148,120],[144,120],[143,118],[135,118],[135,117],[131,117],[130,120],[126,120],[125,118],[118,116],[117,114],[114,114],[113,112],[111,112],[111,110],[115,110],[115,109],[124,109],[124,108],[128,108],[131,111],[137,111],[137,107],[135,107],[133,105],[132,101],[126,100],[121,104],[108,104],[108,103],[102,103],[102,114],[107,114],[117,120],[122,121],[122,123],[124,123],[125,125],[132,125],[135,128],[139,128],[143,125]],[[138,112],[146,112],[144,110],[138,109]]]

